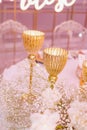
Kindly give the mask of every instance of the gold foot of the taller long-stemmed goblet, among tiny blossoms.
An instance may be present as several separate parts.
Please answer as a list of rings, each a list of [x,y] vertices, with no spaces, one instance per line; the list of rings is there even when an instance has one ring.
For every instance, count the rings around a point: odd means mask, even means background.
[[[37,98],[36,93],[25,93],[22,95],[22,99],[29,104],[33,104],[33,102],[36,98]]]

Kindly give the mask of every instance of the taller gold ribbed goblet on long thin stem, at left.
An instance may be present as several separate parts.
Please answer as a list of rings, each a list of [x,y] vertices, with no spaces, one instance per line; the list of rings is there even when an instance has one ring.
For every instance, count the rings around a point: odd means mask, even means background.
[[[30,60],[30,80],[29,80],[29,93],[24,94],[23,98],[29,103],[32,103],[36,98],[35,93],[32,92],[32,76],[33,66],[36,59],[37,52],[41,49],[44,42],[44,33],[36,30],[26,30],[23,32],[23,43],[26,51],[28,52],[28,58]]]

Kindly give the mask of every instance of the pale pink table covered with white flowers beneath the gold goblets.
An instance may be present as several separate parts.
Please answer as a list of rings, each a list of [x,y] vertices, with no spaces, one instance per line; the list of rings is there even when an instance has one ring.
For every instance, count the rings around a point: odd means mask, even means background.
[[[0,75],[0,130],[55,130],[60,119],[55,104],[61,98],[62,89],[67,98],[72,99],[68,108],[69,130],[73,130],[72,126],[75,130],[87,130],[87,102],[79,98],[77,66],[78,58],[69,57],[51,89],[44,65],[36,63],[32,88],[39,96],[33,105],[22,98],[28,92],[28,59],[6,68]]]

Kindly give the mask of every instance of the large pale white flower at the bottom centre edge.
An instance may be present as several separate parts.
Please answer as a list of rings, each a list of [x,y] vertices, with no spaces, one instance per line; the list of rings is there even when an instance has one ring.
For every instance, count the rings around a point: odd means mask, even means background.
[[[43,114],[34,113],[30,116],[32,126],[30,130],[54,130],[59,120],[57,112],[51,113],[46,110]]]

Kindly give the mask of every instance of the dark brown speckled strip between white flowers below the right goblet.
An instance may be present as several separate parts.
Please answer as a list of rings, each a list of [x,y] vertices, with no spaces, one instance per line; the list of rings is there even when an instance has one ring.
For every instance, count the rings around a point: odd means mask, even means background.
[[[74,127],[70,127],[70,117],[68,114],[69,101],[64,91],[63,83],[59,85],[59,92],[61,93],[61,99],[57,103],[58,111],[60,114],[60,120],[57,122],[55,130],[74,130]]]

